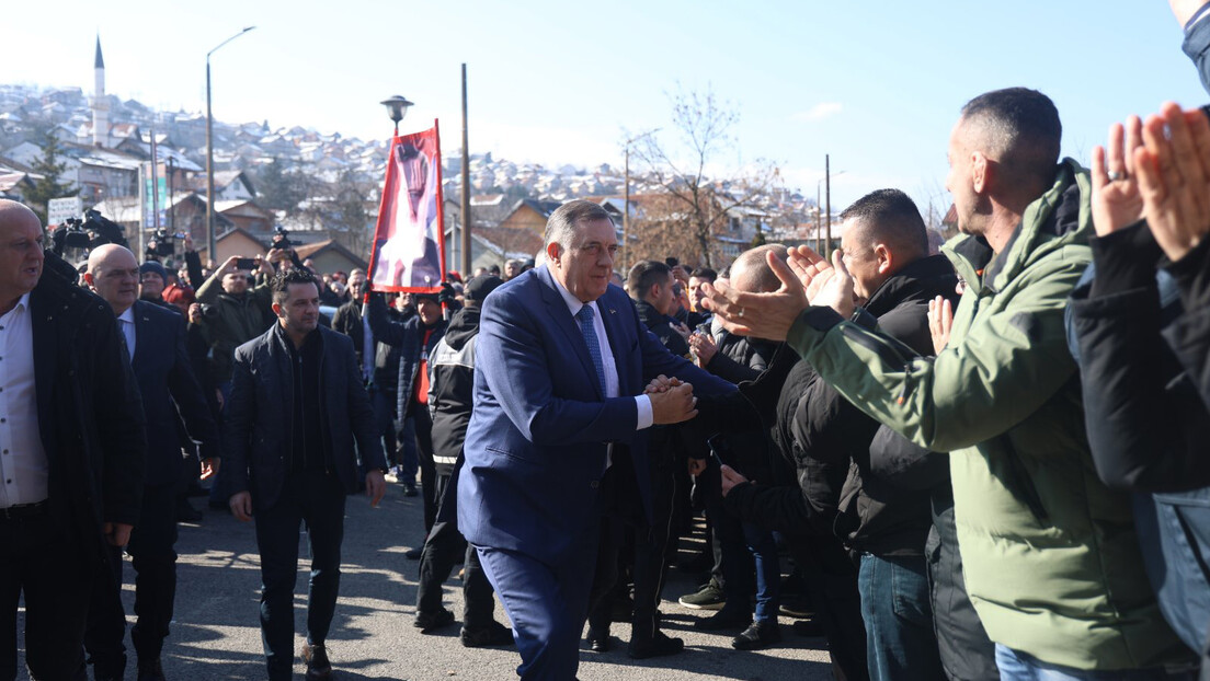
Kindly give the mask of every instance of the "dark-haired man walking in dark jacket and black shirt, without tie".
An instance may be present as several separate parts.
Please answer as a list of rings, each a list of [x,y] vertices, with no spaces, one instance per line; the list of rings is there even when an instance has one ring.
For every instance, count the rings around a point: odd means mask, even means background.
[[[329,679],[324,640],[340,587],[345,496],[362,485],[378,506],[386,461],[374,409],[348,336],[322,328],[319,287],[309,270],[282,270],[272,282],[277,323],[235,352],[223,445],[231,473],[231,513],[255,510],[260,549],[260,630],[270,681],[294,668],[294,582],[299,524],[311,544],[309,681]]]

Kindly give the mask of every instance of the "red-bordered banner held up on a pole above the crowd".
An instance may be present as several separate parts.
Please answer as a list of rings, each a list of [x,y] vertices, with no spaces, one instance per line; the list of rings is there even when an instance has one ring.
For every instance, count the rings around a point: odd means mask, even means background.
[[[432,129],[396,135],[370,252],[370,290],[436,293],[445,278],[442,149]]]

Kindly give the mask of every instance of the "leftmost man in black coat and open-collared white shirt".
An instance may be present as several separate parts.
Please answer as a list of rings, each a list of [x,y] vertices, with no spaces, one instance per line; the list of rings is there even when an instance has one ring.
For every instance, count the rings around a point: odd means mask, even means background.
[[[0,680],[17,676],[22,593],[30,676],[83,679],[97,566],[143,492],[143,406],[114,314],[42,237],[0,200]]]

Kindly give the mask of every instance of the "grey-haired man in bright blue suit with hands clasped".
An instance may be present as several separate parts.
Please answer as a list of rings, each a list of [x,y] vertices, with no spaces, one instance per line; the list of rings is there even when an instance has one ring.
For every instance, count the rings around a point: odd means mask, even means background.
[[[512,619],[517,673],[567,681],[622,477],[650,514],[645,429],[692,419],[695,388],[734,387],[670,354],[610,285],[618,246],[600,206],[559,207],[544,243],[546,265],[484,301],[457,523]],[[685,385],[643,394],[661,375]]]

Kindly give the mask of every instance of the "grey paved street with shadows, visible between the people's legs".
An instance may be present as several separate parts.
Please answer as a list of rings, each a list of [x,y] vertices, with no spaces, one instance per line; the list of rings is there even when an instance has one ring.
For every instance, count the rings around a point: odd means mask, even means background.
[[[201,506],[203,501],[194,503]],[[417,562],[403,554],[421,541],[421,527],[420,500],[405,498],[398,485],[388,486],[387,497],[378,509],[371,509],[364,496],[348,500],[340,602],[328,640],[336,679],[517,679],[519,658],[512,648],[465,648],[457,637],[457,625],[437,635],[421,635],[413,628]],[[163,654],[167,677],[172,681],[264,679],[258,625],[260,573],[252,525],[207,509],[200,525],[180,526],[177,549],[180,553],[177,614]],[[305,541],[300,553],[306,555]],[[126,582],[126,610],[131,613],[134,590],[129,565]],[[453,602],[461,619],[459,587],[455,575],[446,583],[446,607]],[[737,652],[731,648],[730,634],[692,630],[692,621],[704,614],[682,608],[675,601],[695,587],[692,578],[673,570],[664,588],[667,602],[662,611],[667,630],[685,639],[685,653],[632,660],[626,654],[629,627],[615,624],[615,648],[607,653],[583,651],[580,679],[613,680],[620,675],[662,681],[830,679],[823,639],[795,635],[786,618],[782,621],[784,644],[770,651]],[[299,593],[305,594],[305,589],[304,572]],[[305,602],[304,595],[296,600],[298,631],[302,631]],[[507,622],[499,606],[496,617]],[[298,641],[301,647],[301,636]],[[132,651],[131,654],[128,680],[136,677]],[[295,671],[301,679],[301,662]]]

